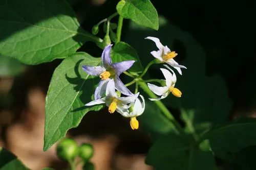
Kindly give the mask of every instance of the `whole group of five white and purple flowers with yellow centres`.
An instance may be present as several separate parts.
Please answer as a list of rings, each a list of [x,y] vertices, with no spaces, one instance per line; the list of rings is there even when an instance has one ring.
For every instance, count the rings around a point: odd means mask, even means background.
[[[179,65],[173,59],[177,56],[175,52],[171,52],[167,46],[163,46],[158,38],[146,37],[145,39],[153,40],[159,48],[158,51],[151,52],[155,58],[173,66],[178,70],[180,75],[182,74],[181,68],[186,67]],[[139,122],[136,117],[144,112],[145,100],[139,92],[133,94],[119,78],[120,74],[128,70],[135,61],[130,60],[112,63],[110,56],[111,47],[112,44],[105,46],[101,55],[101,66],[82,65],[82,69],[87,72],[87,74],[99,76],[101,79],[94,92],[95,100],[87,103],[86,106],[105,104],[108,106],[110,113],[117,111],[122,116],[131,118],[130,125],[131,128],[135,130],[139,128]],[[155,94],[160,95],[160,98],[150,99],[152,101],[164,99],[170,92],[177,97],[180,97],[182,94],[180,90],[174,87],[176,83],[175,72],[167,65],[164,66],[167,69],[160,69],[165,77],[166,86],[159,87],[150,83],[147,84]],[[172,73],[169,70],[172,71]],[[119,91],[119,93],[116,90]],[[118,95],[120,93],[125,96]]]

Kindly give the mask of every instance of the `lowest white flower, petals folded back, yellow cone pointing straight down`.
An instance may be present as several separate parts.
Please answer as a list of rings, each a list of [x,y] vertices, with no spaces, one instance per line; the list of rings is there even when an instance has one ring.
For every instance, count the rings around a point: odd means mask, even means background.
[[[137,98],[132,106],[129,108],[129,113],[125,112],[122,114],[124,117],[131,117],[130,126],[133,130],[139,128],[139,122],[136,119],[137,116],[141,115],[145,110],[145,100],[142,95],[140,95],[141,100]]]

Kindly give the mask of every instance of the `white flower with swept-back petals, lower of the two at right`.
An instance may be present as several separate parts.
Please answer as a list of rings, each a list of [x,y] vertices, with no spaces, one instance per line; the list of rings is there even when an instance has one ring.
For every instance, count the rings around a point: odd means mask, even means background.
[[[155,94],[161,95],[160,98],[150,99],[151,101],[158,101],[158,100],[164,99],[168,96],[170,92],[172,92],[173,95],[175,95],[178,98],[181,97],[181,94],[182,94],[181,91],[174,87],[177,81],[175,72],[172,69],[170,69],[167,65],[164,65],[164,66],[167,67],[169,70],[171,70],[173,72],[173,75],[167,69],[160,68],[165,78],[166,86],[158,87],[154,84],[147,83],[148,88],[150,88]]]

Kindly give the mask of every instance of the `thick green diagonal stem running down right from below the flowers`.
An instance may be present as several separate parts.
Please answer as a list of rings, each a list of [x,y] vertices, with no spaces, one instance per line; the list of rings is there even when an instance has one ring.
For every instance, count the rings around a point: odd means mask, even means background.
[[[157,98],[157,96],[150,90],[150,88],[147,87],[145,82],[139,81],[138,84],[140,87],[151,97],[151,98]],[[169,110],[164,106],[164,104],[161,101],[155,101],[158,108],[163,112],[163,114],[170,120],[170,122],[175,126],[176,130],[181,135],[186,135],[180,126],[178,122],[176,122],[176,119],[174,116],[169,112]]]

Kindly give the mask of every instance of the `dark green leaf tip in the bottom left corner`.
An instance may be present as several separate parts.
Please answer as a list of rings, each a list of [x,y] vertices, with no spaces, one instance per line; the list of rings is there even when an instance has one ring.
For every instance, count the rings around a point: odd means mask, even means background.
[[[22,162],[20,162],[15,155],[6,149],[0,147],[0,170],[28,170]]]

